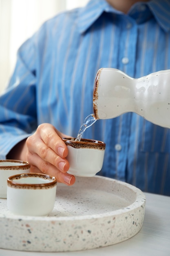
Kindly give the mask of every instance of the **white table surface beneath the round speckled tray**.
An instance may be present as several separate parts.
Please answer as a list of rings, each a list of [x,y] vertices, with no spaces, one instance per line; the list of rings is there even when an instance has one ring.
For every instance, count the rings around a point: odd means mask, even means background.
[[[0,256],[170,256],[170,197],[145,193],[144,225],[134,237],[108,247],[63,253],[0,249]]]

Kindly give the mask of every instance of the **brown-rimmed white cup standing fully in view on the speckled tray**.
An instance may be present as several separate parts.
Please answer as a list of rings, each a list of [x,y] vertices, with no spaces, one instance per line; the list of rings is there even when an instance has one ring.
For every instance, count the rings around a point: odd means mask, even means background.
[[[7,207],[17,215],[47,216],[54,207],[57,179],[43,173],[13,175],[7,180]]]

